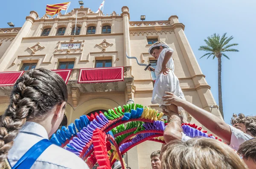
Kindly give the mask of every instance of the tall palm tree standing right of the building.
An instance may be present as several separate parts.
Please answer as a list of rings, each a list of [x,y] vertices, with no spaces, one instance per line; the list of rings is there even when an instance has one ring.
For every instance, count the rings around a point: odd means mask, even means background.
[[[207,52],[202,57],[208,56],[207,57],[208,59],[210,56],[213,56],[212,59],[215,59],[215,58],[218,59],[218,100],[219,100],[219,110],[223,118],[224,118],[224,114],[223,114],[222,91],[221,91],[221,56],[224,56],[227,59],[230,59],[224,52],[239,52],[239,50],[230,48],[233,46],[237,46],[238,44],[237,43],[229,44],[230,41],[233,39],[233,36],[226,37],[226,34],[227,33],[223,34],[222,37],[220,37],[219,34],[213,34],[212,36],[207,37],[207,39],[204,39],[204,42],[206,42],[206,46],[200,46],[200,48],[198,49],[199,51]]]

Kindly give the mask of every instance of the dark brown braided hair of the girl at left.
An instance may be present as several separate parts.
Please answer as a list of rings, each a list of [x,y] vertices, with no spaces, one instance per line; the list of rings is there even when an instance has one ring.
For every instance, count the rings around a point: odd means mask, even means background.
[[[61,76],[51,70],[30,70],[17,80],[0,121],[0,168],[23,124],[43,119],[55,105],[64,101],[67,101],[67,86]]]

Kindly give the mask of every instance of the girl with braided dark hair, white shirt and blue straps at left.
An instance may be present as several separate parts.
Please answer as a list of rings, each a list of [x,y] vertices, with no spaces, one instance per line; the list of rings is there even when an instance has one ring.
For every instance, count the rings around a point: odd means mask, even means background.
[[[88,169],[48,140],[61,124],[67,97],[65,82],[50,70],[30,70],[17,80],[0,121],[1,169]]]

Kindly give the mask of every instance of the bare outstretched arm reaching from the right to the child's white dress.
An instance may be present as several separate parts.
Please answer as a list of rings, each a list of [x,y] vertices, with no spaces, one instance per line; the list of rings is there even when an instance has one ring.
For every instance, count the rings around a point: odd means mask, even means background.
[[[173,93],[166,92],[166,94],[168,95],[163,96],[164,101],[168,101],[166,104],[175,104],[178,107],[182,107],[204,127],[211,130],[215,135],[218,135],[227,144],[230,144],[232,132],[229,125],[223,120],[186,100],[180,99]]]

